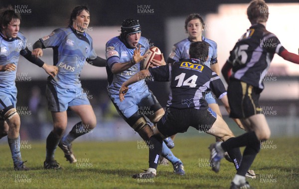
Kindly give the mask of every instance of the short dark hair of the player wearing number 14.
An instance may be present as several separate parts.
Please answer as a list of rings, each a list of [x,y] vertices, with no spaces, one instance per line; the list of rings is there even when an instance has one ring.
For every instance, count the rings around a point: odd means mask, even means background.
[[[205,41],[192,42],[189,48],[190,58],[199,59],[201,62],[205,62],[209,55],[209,44]]]

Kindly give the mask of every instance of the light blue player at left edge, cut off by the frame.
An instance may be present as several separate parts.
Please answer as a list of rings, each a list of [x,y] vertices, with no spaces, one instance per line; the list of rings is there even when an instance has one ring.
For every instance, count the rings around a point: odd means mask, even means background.
[[[0,9],[0,138],[7,135],[14,170],[27,171],[20,153],[20,117],[16,111],[15,74],[19,57],[22,55],[42,67],[51,77],[55,77],[58,69],[32,56],[27,39],[19,32],[20,21],[20,15],[11,6]]]

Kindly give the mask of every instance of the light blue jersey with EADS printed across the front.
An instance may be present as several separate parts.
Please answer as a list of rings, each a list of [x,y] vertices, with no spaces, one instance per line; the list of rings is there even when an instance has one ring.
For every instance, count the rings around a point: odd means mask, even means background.
[[[53,48],[53,65],[59,69],[55,79],[48,78],[50,82],[64,89],[80,88],[80,73],[86,59],[97,58],[90,35],[66,27],[39,40],[43,48]]]

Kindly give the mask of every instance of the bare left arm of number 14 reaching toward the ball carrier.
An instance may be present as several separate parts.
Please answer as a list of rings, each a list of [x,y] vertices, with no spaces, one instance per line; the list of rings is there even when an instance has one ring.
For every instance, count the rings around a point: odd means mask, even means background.
[[[125,81],[120,89],[119,96],[120,100],[123,101],[125,99],[125,95],[129,90],[129,86],[145,79],[146,77],[149,77],[150,73],[149,70],[142,70],[138,72],[137,74],[133,75],[129,80]]]

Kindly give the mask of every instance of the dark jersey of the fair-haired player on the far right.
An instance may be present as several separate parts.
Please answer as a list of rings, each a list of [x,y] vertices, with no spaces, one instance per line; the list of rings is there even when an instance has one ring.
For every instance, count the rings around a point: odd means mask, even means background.
[[[227,61],[233,66],[231,78],[264,89],[263,78],[274,54],[280,55],[283,50],[276,35],[263,24],[252,25],[230,52]]]

